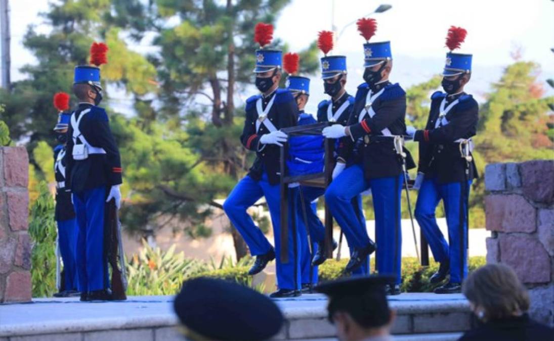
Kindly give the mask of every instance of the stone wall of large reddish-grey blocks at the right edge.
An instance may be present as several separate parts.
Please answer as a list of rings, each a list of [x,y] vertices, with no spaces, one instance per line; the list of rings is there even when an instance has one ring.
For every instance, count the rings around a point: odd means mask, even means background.
[[[531,316],[554,326],[554,161],[489,164],[485,190],[487,262],[513,267]]]

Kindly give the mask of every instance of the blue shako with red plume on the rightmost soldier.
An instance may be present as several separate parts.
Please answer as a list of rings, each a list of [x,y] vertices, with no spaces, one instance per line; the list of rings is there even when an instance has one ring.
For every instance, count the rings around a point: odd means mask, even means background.
[[[468,32],[461,27],[450,26],[448,29],[445,44],[450,51],[447,53],[447,59],[444,63],[443,76],[455,76],[471,73],[472,55],[452,52],[453,50],[460,48],[461,43],[464,42],[467,34]]]

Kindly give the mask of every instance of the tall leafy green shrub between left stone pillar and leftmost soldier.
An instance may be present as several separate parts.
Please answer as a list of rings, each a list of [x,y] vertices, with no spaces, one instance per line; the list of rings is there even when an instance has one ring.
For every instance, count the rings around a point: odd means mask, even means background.
[[[31,282],[33,297],[50,297],[56,288],[57,238],[54,220],[54,199],[43,181],[39,184],[39,197],[30,213],[29,236],[31,251]]]

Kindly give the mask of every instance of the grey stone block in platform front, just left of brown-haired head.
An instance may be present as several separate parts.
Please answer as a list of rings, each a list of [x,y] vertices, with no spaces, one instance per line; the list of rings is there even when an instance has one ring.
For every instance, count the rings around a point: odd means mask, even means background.
[[[469,312],[416,314],[413,323],[414,333],[459,332],[471,327],[471,315]]]

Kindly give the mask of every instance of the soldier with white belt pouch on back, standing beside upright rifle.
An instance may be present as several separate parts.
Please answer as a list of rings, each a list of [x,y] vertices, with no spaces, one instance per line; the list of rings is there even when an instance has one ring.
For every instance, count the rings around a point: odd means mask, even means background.
[[[105,203],[115,199],[119,208],[121,200],[120,154],[106,111],[98,106],[102,99],[98,66],[75,67],[73,92],[79,106],[71,115],[64,158],[79,229],[76,258],[81,301],[111,299],[104,252]]]

